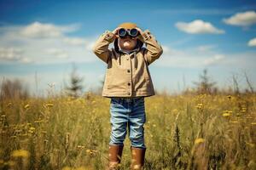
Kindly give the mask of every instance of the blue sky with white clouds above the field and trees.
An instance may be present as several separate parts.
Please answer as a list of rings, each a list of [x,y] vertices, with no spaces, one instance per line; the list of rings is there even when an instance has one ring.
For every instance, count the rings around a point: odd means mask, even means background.
[[[91,47],[104,31],[129,21],[164,48],[149,67],[155,89],[193,87],[204,68],[218,87],[232,86],[235,75],[245,88],[245,71],[255,87],[255,8],[253,0],[0,1],[0,76],[44,94],[49,84],[63,88],[75,63],[85,89],[99,87],[106,65]]]

